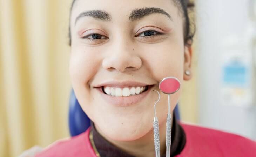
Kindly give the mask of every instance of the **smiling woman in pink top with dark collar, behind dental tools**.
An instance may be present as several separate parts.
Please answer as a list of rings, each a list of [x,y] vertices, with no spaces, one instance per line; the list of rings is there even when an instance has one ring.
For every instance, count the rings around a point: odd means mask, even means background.
[[[171,111],[190,80],[192,38],[185,0],[74,0],[70,13],[70,76],[92,127],[36,157],[154,157],[152,120],[159,82],[181,81]],[[137,94],[135,92],[138,90]],[[167,95],[156,105],[165,156]],[[184,124],[173,117],[171,156],[252,157],[244,137]]]

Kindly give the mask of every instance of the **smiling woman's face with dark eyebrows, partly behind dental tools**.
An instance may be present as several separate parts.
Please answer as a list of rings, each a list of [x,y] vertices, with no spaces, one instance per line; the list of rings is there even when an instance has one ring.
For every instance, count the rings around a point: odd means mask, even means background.
[[[174,109],[183,80],[191,77],[184,75],[190,70],[191,49],[184,46],[183,15],[173,1],[76,0],[70,30],[72,86],[100,132],[130,141],[152,130],[158,95],[150,89],[160,91],[164,77],[181,82],[171,95]],[[160,94],[156,113],[162,125],[168,95]]]

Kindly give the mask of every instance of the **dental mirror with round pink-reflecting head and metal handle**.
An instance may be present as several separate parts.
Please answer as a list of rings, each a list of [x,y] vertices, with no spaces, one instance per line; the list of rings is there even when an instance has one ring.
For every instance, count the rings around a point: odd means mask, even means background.
[[[166,118],[166,157],[171,152],[171,94],[180,89],[180,81],[176,77],[166,77],[159,83],[159,89],[168,94],[168,114]]]

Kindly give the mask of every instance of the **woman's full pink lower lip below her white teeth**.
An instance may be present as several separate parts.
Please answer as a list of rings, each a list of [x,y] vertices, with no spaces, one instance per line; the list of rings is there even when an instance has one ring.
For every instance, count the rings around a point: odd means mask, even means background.
[[[149,93],[150,89],[153,86],[149,86],[148,90],[139,94],[139,95],[134,95],[134,96],[128,96],[128,97],[116,97],[116,96],[111,96],[103,93],[102,88],[97,88],[98,91],[100,91],[101,97],[103,100],[105,100],[108,104],[113,104],[115,106],[132,106],[135,105],[136,103],[139,103],[141,100],[143,100]]]

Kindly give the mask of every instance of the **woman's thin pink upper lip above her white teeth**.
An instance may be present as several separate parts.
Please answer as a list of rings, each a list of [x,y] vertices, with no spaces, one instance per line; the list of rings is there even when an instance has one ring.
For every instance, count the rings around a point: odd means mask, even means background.
[[[119,81],[108,81],[108,82],[103,82],[101,84],[98,84],[94,87],[102,87],[102,86],[115,86],[115,87],[129,87],[129,86],[147,86],[147,85],[152,85],[152,84],[146,84],[146,83],[142,83],[142,82],[137,82],[137,81],[123,81],[123,82],[119,82]]]

